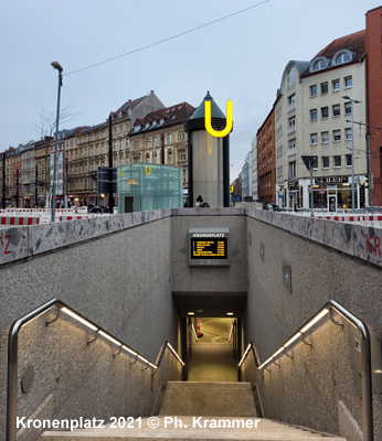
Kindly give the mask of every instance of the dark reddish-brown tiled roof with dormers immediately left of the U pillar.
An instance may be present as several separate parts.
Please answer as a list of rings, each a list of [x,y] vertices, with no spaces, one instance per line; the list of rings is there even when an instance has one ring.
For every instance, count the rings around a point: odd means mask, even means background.
[[[137,118],[134,129],[129,135],[141,133],[144,131],[158,129],[159,127],[172,126],[183,122],[190,118],[195,108],[189,103],[180,103],[171,107],[150,111],[145,118]]]

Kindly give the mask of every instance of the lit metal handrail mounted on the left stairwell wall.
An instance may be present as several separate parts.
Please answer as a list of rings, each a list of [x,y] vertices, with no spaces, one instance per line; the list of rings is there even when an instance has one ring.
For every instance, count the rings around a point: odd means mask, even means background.
[[[60,316],[60,312],[64,309],[66,313],[70,313],[72,316],[75,316],[78,321],[81,321],[82,323],[84,323],[87,326],[89,326],[91,329],[93,329],[96,332],[96,337],[98,337],[99,334],[105,336],[113,343],[119,345],[120,351],[124,348],[128,353],[134,354],[136,356],[136,361],[138,361],[138,358],[139,358],[141,362],[146,363],[147,364],[146,368],[150,366],[155,370],[158,369],[160,366],[160,363],[163,358],[163,353],[167,347],[170,348],[170,352],[172,353],[172,355],[184,366],[184,363],[182,362],[182,359],[179,357],[179,355],[177,354],[177,352],[173,349],[173,347],[170,345],[170,343],[168,341],[165,343],[165,345],[162,347],[162,354],[159,357],[159,362],[157,364],[153,364],[150,361],[148,361],[146,357],[140,355],[138,352],[131,349],[128,345],[126,345],[119,338],[114,337],[107,331],[105,331],[100,326],[96,325],[91,320],[87,320],[79,312],[75,311],[73,308],[67,306],[61,300],[57,300],[57,299],[50,300],[49,302],[42,304],[41,306],[36,308],[35,310],[29,312],[28,314],[23,315],[22,318],[20,318],[15,322],[13,322],[13,324],[11,325],[11,327],[9,330],[9,336],[8,336],[8,390],[7,390],[7,441],[15,441],[15,439],[17,439],[19,333],[21,331],[21,327],[24,324],[26,324],[31,320],[35,319],[36,316],[41,315],[42,313],[49,311],[53,306],[59,308],[57,315],[52,321],[46,321],[45,322],[46,325],[55,322]],[[92,343],[95,340],[96,338],[94,338],[93,341],[89,341],[88,343]],[[114,356],[119,355],[120,351],[117,354],[114,354]],[[151,370],[151,374],[153,374],[152,370]]]

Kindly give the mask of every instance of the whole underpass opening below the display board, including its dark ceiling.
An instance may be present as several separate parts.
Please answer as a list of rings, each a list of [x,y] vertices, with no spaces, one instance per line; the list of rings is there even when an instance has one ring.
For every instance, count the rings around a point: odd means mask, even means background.
[[[185,379],[237,381],[237,363],[243,351],[242,315],[247,293],[172,291],[172,298],[181,318],[180,352],[185,362]],[[203,336],[197,342],[198,320]]]

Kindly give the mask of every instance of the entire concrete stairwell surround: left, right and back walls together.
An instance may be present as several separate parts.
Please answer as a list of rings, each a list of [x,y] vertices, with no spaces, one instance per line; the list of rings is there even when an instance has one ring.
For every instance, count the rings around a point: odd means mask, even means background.
[[[203,226],[230,227],[229,268],[189,267],[188,228]],[[0,237],[2,433],[8,330],[52,298],[152,362],[165,340],[176,347],[179,342],[171,291],[247,291],[244,343],[254,342],[262,361],[330,299],[382,335],[382,234],[373,228],[252,208],[179,208],[0,229]],[[291,267],[291,292],[283,284],[283,261]],[[45,327],[41,316],[25,326],[19,377],[32,364],[35,380],[28,395],[19,394],[19,416],[144,416],[161,381],[179,378],[179,365],[170,365],[156,375],[151,391],[149,370],[130,366],[128,357],[114,358],[102,338],[87,346],[86,337],[83,326],[66,319]],[[323,322],[311,337],[312,349],[296,344],[294,359],[284,357],[263,378],[247,362],[244,379],[257,381],[266,417],[339,432],[339,402],[360,422],[347,329]],[[378,439],[380,397],[374,416]],[[33,439],[29,433],[22,437]]]

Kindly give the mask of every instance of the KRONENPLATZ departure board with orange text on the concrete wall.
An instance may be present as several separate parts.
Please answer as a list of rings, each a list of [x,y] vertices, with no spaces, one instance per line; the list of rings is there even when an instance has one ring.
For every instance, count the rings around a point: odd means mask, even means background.
[[[189,265],[230,265],[230,228],[189,228]]]

